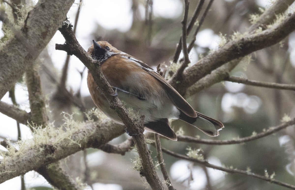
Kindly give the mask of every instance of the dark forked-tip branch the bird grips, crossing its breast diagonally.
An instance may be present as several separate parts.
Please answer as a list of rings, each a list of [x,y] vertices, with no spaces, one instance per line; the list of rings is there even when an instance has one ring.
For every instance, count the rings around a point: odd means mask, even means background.
[[[140,120],[134,120],[130,117],[127,110],[124,108],[124,105],[120,102],[119,98],[112,96],[112,94],[114,94],[114,90],[102,74],[99,62],[93,60],[81,47],[75,35],[73,34],[71,25],[67,25],[66,22],[64,22],[64,25],[59,30],[65,37],[65,44],[56,44],[55,49],[66,51],[68,54],[71,55],[74,54],[89,69],[94,78],[94,81],[102,90],[102,92],[104,92],[104,95],[109,101],[111,108],[116,111],[130,134],[139,134],[138,136],[133,136],[133,139],[135,141],[139,156],[142,161],[141,174],[145,176],[152,189],[163,189],[163,185],[157,173],[155,172],[153,161],[144,139],[144,117],[140,117]]]

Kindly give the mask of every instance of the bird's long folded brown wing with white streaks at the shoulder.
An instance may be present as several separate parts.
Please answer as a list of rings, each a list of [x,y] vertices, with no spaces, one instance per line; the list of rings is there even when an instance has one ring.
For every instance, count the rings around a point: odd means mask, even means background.
[[[155,77],[164,87],[170,100],[178,109],[190,117],[197,117],[197,114],[191,105],[189,105],[189,103],[187,103],[186,100],[161,75],[155,72],[153,68],[129,54],[123,54],[122,57],[135,62],[139,67],[148,72],[151,76]]]

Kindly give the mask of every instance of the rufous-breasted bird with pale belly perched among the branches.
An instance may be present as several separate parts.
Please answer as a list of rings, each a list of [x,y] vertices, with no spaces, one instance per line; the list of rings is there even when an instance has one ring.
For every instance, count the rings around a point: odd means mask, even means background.
[[[195,111],[161,75],[141,60],[118,50],[109,42],[92,41],[87,53],[99,61],[103,75],[125,107],[145,115],[145,130],[177,141],[169,118],[183,120],[208,136],[218,136],[219,130],[224,128],[220,121]],[[109,118],[123,125],[89,70],[87,86],[94,104]]]

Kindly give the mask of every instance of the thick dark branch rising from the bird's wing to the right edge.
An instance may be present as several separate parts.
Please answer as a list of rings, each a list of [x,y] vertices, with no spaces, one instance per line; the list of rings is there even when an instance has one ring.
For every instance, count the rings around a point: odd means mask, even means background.
[[[289,14],[281,23],[272,28],[232,40],[185,70],[183,80],[179,81],[174,75],[169,82],[178,92],[184,94],[189,86],[226,62],[280,42],[294,31],[294,22],[295,13]]]

